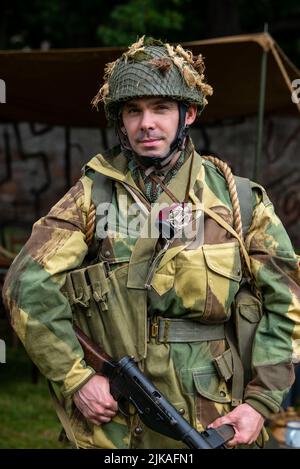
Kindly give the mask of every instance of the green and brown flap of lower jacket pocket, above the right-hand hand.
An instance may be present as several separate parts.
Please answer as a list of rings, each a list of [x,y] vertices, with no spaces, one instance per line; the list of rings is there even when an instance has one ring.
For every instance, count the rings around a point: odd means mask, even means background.
[[[224,380],[220,380],[213,366],[203,367],[193,371],[194,385],[201,396],[222,404],[231,402]]]

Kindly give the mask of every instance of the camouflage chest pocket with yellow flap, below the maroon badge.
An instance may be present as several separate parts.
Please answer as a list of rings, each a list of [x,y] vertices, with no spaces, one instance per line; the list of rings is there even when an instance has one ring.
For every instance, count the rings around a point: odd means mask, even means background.
[[[171,288],[189,317],[226,321],[242,278],[237,242],[207,244],[179,252],[158,269],[152,287],[159,295]]]

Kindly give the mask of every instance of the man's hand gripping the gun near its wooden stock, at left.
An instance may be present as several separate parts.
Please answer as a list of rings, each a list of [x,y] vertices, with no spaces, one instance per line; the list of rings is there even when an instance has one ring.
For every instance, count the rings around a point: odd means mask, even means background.
[[[73,396],[80,412],[96,425],[110,422],[118,410],[118,403],[110,394],[109,381],[104,376],[93,376]]]

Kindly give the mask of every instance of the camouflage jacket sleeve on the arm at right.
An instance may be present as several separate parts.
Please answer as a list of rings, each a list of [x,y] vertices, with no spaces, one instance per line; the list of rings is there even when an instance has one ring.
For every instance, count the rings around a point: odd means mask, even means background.
[[[279,410],[294,380],[292,360],[300,356],[300,273],[299,259],[265,191],[254,194],[246,245],[264,314],[253,344],[254,377],[245,400],[268,417]]]

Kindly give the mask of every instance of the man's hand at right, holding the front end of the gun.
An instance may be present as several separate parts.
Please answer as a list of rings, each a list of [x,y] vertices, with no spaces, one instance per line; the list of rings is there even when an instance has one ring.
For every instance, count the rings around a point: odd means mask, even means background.
[[[249,404],[241,404],[224,417],[216,419],[208,428],[218,428],[223,424],[232,425],[235,435],[226,446],[232,448],[238,444],[250,445],[257,439],[264,424],[264,417]]]

